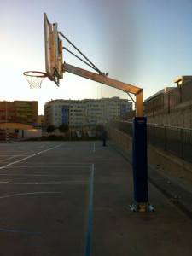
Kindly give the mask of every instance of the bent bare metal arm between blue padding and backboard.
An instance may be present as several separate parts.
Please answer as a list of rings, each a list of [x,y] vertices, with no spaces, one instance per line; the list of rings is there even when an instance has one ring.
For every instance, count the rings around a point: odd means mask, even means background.
[[[90,79],[102,84],[106,84],[113,88],[124,90],[126,92],[130,92],[134,94],[136,96],[136,116],[143,117],[143,89],[131,84],[125,84],[123,82],[119,82],[118,80],[109,79],[105,75],[93,73],[79,67],[74,67],[73,65],[67,64],[65,62],[63,64],[62,71],[73,73],[85,79]]]

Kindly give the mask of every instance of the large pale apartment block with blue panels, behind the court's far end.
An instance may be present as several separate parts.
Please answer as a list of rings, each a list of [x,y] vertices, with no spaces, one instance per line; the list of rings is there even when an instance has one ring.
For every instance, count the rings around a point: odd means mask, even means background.
[[[54,100],[44,104],[44,125],[98,125],[131,110],[132,103],[119,97],[82,101]]]

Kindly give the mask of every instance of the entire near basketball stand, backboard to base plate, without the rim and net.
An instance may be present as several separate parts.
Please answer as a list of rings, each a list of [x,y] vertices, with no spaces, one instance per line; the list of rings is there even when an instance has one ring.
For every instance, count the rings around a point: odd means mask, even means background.
[[[74,49],[78,50],[79,54],[88,61],[86,64],[92,67],[97,73],[63,62],[62,49],[65,48],[62,47],[62,41],[59,36],[67,40]],[[67,72],[101,84],[106,84],[136,96],[136,117],[133,121],[132,138],[136,205],[131,204],[130,207],[132,212],[154,212],[154,208],[148,203],[147,119],[143,117],[143,89],[135,85],[108,78],[108,73],[102,73],[74,44],[72,44],[72,42],[61,32],[57,31],[57,23],[51,24],[46,13],[44,13],[44,45],[46,72],[52,81],[57,81],[57,85],[59,84],[59,79],[63,78],[63,73]]]

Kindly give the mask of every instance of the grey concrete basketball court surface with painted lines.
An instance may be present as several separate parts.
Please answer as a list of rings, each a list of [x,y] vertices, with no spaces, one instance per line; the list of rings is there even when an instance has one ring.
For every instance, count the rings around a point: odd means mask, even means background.
[[[130,211],[132,166],[111,143],[1,143],[0,150],[1,256],[191,255],[192,219],[154,183],[156,212]]]

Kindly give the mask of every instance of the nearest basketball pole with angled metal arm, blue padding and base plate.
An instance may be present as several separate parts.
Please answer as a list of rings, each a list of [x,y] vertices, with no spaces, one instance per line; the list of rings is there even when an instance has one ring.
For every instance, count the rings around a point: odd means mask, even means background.
[[[97,74],[74,67],[64,62],[63,72],[73,73],[113,88],[132,93],[136,96],[136,117],[133,120],[132,160],[135,204],[131,204],[132,212],[154,212],[148,203],[148,154],[147,154],[147,119],[143,117],[143,89],[118,80],[109,79],[104,73]],[[102,134],[103,136],[103,134]]]

